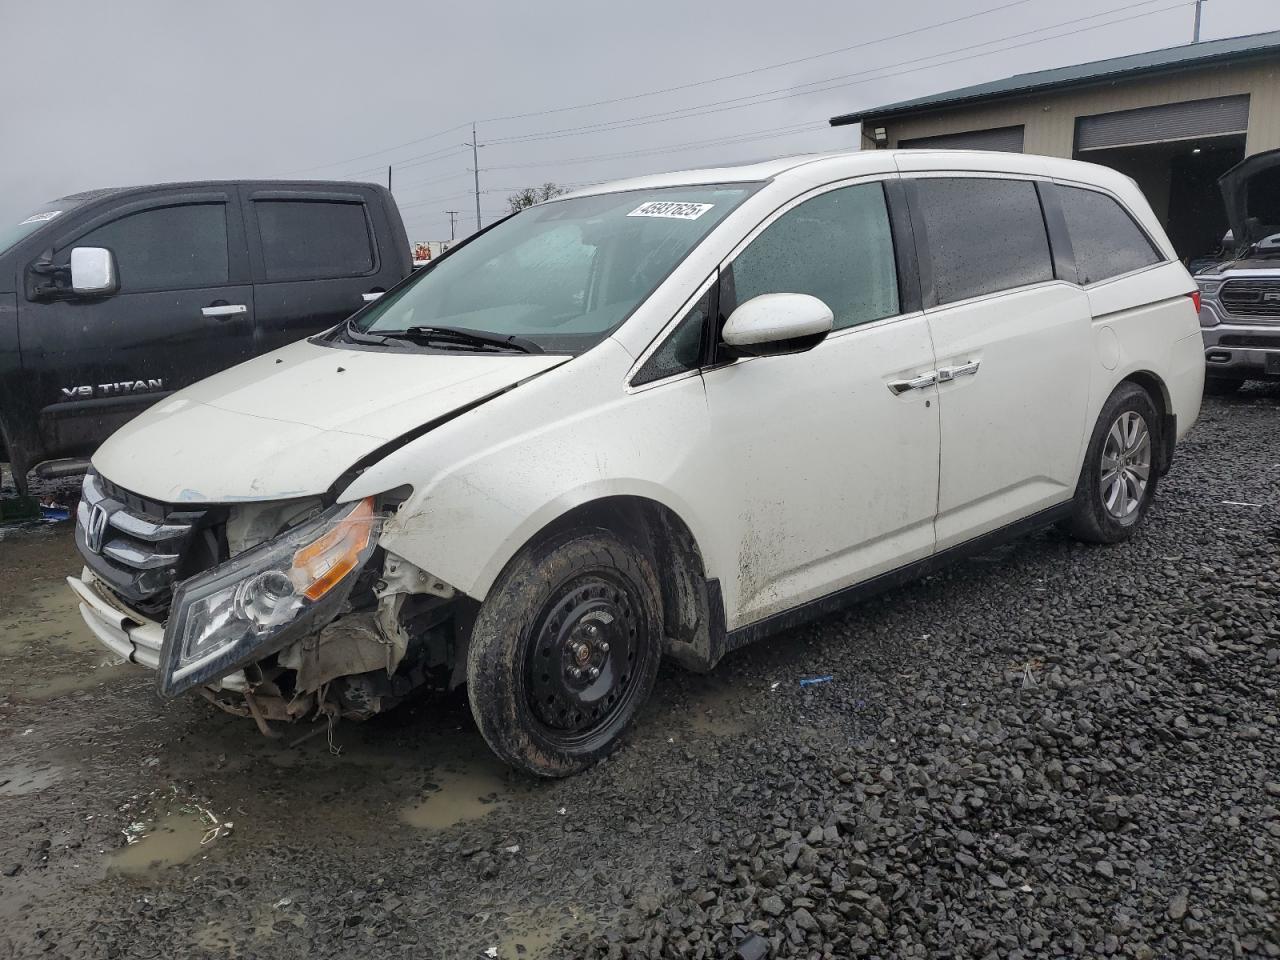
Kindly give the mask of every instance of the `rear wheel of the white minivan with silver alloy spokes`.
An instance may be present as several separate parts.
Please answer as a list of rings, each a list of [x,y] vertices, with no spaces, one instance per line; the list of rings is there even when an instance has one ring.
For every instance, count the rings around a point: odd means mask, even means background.
[[[1066,530],[1085,543],[1119,543],[1133,536],[1156,495],[1161,419],[1151,397],[1120,384],[1093,428]]]

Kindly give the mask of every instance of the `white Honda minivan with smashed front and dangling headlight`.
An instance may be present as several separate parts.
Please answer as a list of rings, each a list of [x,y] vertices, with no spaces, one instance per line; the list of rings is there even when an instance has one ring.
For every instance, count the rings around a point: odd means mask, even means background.
[[[93,457],[92,631],[264,732],[466,685],[605,755],[726,653],[1044,524],[1115,543],[1204,379],[1137,186],[869,151],[611,183],[458,244]]]

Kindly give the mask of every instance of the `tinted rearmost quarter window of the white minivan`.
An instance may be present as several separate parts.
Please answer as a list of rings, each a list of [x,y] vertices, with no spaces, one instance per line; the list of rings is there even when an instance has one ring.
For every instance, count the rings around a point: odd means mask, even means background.
[[[1098,283],[1162,260],[1112,197],[1079,187],[1059,187],[1057,196],[1080,283]]]

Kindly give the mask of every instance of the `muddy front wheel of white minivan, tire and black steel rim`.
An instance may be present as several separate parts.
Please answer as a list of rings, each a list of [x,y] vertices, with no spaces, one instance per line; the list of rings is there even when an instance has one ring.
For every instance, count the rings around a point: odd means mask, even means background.
[[[564,777],[608,755],[653,690],[662,602],[648,558],[604,530],[525,548],[480,607],[467,696],[503,760]]]

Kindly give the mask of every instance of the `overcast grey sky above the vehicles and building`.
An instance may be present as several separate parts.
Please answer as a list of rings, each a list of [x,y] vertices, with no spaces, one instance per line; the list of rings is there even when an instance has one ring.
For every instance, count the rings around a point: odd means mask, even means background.
[[[447,238],[445,210],[461,211],[463,236],[475,224],[461,146],[471,120],[486,145],[488,223],[508,193],[544,180],[855,147],[856,128],[827,128],[829,116],[1184,44],[1193,10],[1185,0],[0,0],[0,223],[93,187],[385,183],[390,163],[410,237]],[[968,19],[947,23],[957,18]],[[1204,5],[1204,38],[1268,29],[1280,29],[1276,0]],[[598,105],[562,109],[584,104]]]

